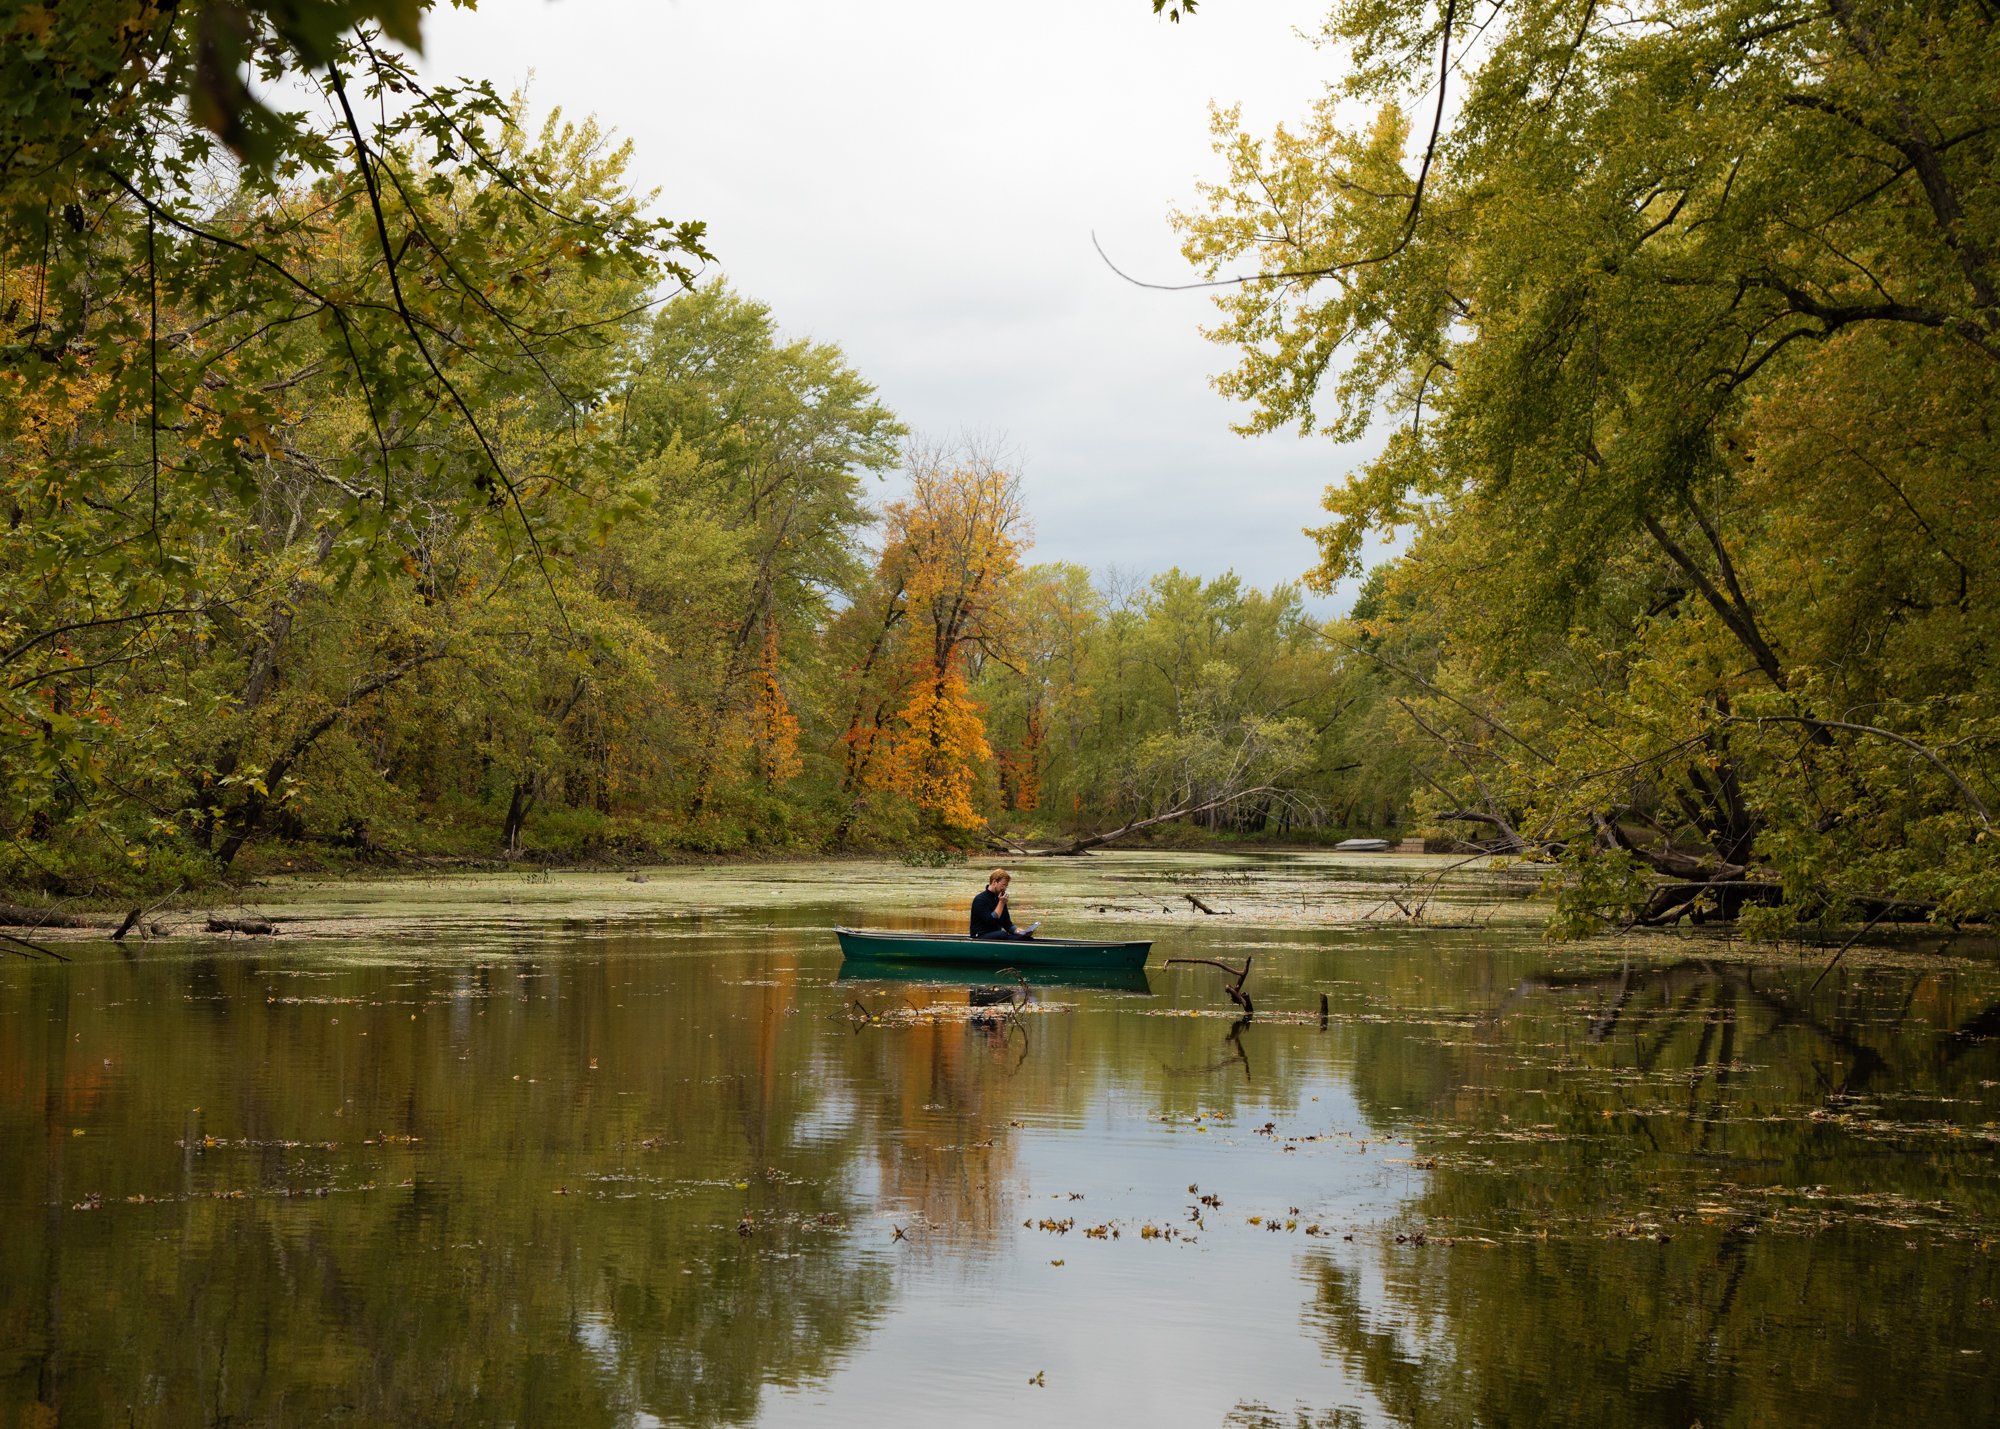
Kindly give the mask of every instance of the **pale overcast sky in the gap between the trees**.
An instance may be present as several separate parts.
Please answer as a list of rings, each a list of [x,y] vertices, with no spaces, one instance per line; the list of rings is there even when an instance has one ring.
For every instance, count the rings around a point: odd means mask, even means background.
[[[1260,130],[1304,112],[1332,56],[1324,0],[480,0],[426,24],[426,70],[528,78],[536,116],[592,112],[636,144],[662,212],[708,222],[728,280],[788,334],[838,342],[932,436],[1004,438],[1036,560],[1314,564],[1300,532],[1358,452],[1242,438],[1210,386],[1204,294],[1168,208],[1216,172],[1208,102]],[[1344,608],[1346,596],[1314,608]]]

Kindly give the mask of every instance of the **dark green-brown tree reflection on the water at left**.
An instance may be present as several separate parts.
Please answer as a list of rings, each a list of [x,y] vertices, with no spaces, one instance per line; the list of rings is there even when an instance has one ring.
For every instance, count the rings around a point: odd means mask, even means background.
[[[788,989],[642,963],[38,983],[0,1019],[0,1135],[38,1149],[0,1171],[0,1397],[740,1423],[828,1373],[890,1295],[854,1245],[864,1133],[820,1115]]]

